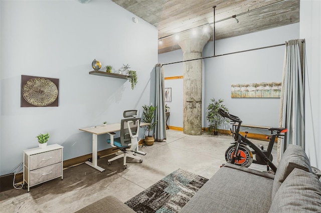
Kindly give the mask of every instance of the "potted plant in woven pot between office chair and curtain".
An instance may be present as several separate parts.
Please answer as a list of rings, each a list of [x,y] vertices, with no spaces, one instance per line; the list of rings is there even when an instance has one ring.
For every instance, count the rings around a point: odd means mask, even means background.
[[[157,123],[157,120],[154,120],[154,111],[156,109],[157,106],[147,106],[147,105],[143,105],[142,108],[144,109],[143,111],[143,119],[142,121],[145,122],[145,123],[150,123],[150,125],[146,125],[146,132],[145,132],[145,138],[144,138],[144,141],[145,141],[145,144],[146,145],[152,145],[154,144],[154,135],[151,134],[151,131],[154,129],[156,123]],[[147,135],[146,135],[147,133]]]

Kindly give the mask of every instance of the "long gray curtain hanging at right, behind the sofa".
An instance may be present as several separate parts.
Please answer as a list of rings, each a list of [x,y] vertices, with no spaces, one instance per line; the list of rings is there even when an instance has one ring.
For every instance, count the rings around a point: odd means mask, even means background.
[[[288,144],[304,148],[303,44],[302,39],[285,42],[279,124],[287,133],[279,142],[279,159]]]

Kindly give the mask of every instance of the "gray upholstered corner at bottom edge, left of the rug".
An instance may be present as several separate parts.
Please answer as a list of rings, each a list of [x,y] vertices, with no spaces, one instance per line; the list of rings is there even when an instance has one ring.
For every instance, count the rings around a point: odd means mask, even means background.
[[[105,196],[93,202],[78,211],[76,213],[95,212],[95,213],[134,213],[135,211],[128,207],[125,203],[120,201],[114,196]]]

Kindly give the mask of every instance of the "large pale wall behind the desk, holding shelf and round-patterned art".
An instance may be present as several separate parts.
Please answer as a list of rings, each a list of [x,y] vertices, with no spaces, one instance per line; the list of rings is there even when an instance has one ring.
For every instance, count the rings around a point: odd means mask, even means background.
[[[80,127],[119,122],[122,111],[150,103],[157,63],[157,29],[110,0],[1,1],[1,174],[23,160],[23,150],[64,146],[64,159],[91,153],[92,135]],[[138,83],[89,75],[91,61],[116,69],[129,64]],[[58,107],[20,107],[21,75],[59,78]],[[98,150],[108,148],[99,135]]]

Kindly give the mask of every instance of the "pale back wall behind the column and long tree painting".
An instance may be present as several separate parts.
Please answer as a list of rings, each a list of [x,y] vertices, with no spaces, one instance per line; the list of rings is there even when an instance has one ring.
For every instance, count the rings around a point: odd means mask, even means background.
[[[258,48],[263,46],[285,43],[286,40],[299,37],[299,24],[290,24],[282,27],[263,30],[255,33],[217,40],[215,42],[216,55]],[[231,84],[281,81],[285,46],[278,46],[243,53],[236,53],[203,60],[203,126],[208,126],[206,120],[206,107],[211,98],[224,99],[225,105],[232,114],[239,116],[244,123],[257,125],[278,126],[279,98],[231,98]],[[203,57],[213,56],[213,42],[208,42],[203,49]],[[177,60],[175,60],[177,59]],[[182,50],[175,50],[158,55],[158,62],[169,63],[183,59]],[[183,74],[183,64],[164,66],[165,76]],[[178,70],[181,69],[179,72]],[[183,85],[176,80],[175,86]],[[181,80],[182,81],[182,80]],[[170,83],[171,82],[171,83]],[[183,81],[182,81],[183,83]],[[173,84],[172,80],[166,80],[165,86]],[[173,90],[173,89],[172,89]],[[182,94],[182,93],[181,93]],[[172,101],[173,103],[173,101]],[[183,103],[182,103],[183,105]],[[174,120],[174,114],[183,117],[183,110],[179,103],[171,106],[170,125],[183,126],[183,118]],[[181,115],[182,114],[182,115]],[[229,129],[229,126],[224,126]],[[256,132],[254,129],[249,131]],[[256,132],[259,133],[259,132]]]

